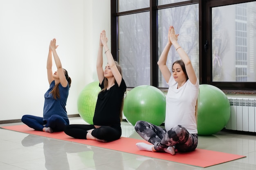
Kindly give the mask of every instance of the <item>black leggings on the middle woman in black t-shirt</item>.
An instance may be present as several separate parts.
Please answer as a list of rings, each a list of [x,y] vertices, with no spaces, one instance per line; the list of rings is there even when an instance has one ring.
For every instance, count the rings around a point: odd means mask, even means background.
[[[107,142],[119,139],[122,134],[121,126],[101,126],[95,128],[93,124],[70,124],[65,126],[64,132],[76,139],[86,139],[86,135],[91,129],[94,129],[92,136]]]

